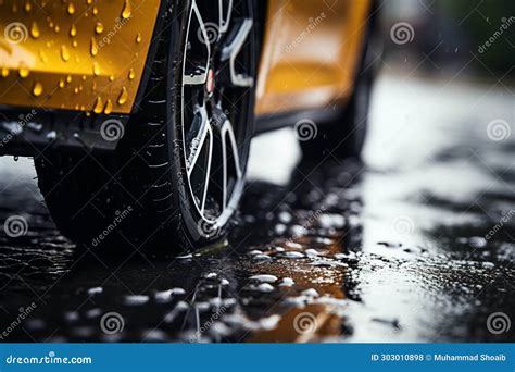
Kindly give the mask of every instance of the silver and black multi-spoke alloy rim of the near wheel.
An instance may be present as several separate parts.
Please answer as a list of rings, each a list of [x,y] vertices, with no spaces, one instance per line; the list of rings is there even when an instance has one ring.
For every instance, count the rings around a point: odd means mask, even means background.
[[[223,226],[243,183],[252,76],[250,1],[192,0],[183,61],[187,188],[201,221]]]

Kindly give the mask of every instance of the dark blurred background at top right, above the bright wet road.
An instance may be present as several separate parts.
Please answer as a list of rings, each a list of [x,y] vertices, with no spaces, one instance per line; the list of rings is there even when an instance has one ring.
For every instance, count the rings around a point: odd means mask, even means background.
[[[382,33],[399,22],[413,38],[387,38],[386,63],[417,74],[515,83],[515,1],[388,0]],[[499,82],[501,84],[501,82]]]

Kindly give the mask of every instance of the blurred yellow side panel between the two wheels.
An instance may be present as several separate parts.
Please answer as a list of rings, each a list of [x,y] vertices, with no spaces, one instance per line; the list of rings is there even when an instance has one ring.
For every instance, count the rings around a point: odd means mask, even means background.
[[[370,0],[269,0],[258,114],[319,109],[349,98]]]

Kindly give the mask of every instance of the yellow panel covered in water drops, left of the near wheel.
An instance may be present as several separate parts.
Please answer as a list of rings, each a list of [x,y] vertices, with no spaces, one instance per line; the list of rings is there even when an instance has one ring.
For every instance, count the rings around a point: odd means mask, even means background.
[[[0,0],[0,104],[129,113],[160,1],[24,1]]]

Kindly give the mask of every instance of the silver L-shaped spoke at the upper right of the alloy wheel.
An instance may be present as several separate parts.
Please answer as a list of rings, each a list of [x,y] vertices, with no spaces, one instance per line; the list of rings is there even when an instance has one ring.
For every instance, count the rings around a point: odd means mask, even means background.
[[[235,87],[252,87],[254,78],[236,72],[236,58],[241,52],[250,32],[252,30],[252,20],[243,18],[236,23],[236,30],[229,36],[229,44],[222,50],[222,62],[229,62],[230,84]]]

